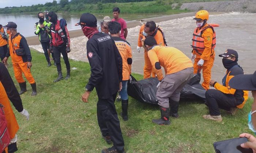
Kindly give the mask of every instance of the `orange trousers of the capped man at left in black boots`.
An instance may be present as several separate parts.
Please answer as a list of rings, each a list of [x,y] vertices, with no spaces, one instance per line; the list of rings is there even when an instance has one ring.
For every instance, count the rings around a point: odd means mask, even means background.
[[[30,84],[34,84],[35,80],[30,72],[30,68],[27,68],[27,62],[25,63],[12,63],[13,69],[14,69],[14,75],[18,83],[23,83],[25,80],[22,77],[22,72],[24,73],[24,76],[26,77],[27,81],[29,81]]]

